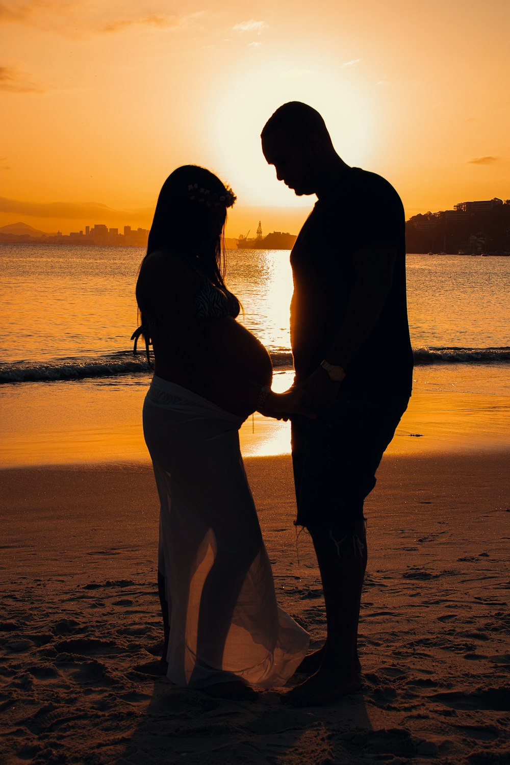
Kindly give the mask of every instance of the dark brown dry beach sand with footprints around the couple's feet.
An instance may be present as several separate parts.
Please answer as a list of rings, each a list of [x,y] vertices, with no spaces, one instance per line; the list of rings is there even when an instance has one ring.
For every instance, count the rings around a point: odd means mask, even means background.
[[[325,637],[290,457],[246,467],[278,599]],[[510,763],[508,452],[387,455],[367,502],[362,691],[294,709],[148,674],[161,647],[148,465],[3,470],[0,761]],[[297,682],[294,677],[289,687]]]

